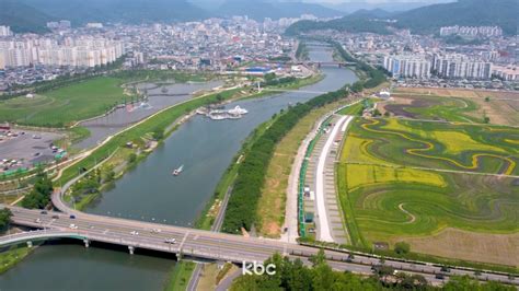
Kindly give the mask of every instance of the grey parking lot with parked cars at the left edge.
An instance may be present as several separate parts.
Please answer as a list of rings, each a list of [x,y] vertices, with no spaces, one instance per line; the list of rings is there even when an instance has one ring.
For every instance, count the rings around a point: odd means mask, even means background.
[[[51,143],[61,137],[54,132],[0,131],[0,173],[54,161],[62,150],[53,149]]]

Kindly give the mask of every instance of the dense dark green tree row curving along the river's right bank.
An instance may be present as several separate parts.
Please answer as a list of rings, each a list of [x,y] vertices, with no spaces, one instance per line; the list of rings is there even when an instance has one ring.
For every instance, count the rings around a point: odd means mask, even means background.
[[[245,153],[245,159],[238,170],[238,177],[223,221],[222,230],[224,232],[238,233],[241,228],[249,231],[256,221],[257,201],[262,194],[268,163],[276,144],[312,109],[347,95],[347,91],[342,89],[314,97],[304,104],[298,103],[281,114],[254,142],[249,152]]]

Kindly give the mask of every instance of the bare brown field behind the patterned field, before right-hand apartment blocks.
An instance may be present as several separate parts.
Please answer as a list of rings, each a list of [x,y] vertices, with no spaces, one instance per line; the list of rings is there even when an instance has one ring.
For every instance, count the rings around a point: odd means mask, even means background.
[[[441,88],[399,88],[393,95],[395,98],[393,105],[407,105],[410,104],[410,98],[406,98],[406,96],[419,95],[469,98],[476,103],[480,108],[468,113],[468,115],[473,117],[486,115],[491,118],[491,123],[495,125],[519,125],[519,92]],[[489,97],[491,101],[485,102],[485,97]],[[385,106],[388,105],[381,106],[382,114],[385,112]]]

